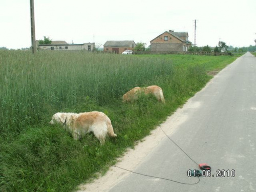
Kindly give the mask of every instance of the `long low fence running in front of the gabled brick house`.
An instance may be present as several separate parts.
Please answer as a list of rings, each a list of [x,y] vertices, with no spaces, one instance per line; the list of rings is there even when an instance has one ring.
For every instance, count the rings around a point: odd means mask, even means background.
[[[228,52],[194,52],[194,51],[134,51],[133,54],[135,55],[145,55],[145,54],[176,54],[176,55],[212,55],[212,56],[219,56],[219,55],[229,55]]]

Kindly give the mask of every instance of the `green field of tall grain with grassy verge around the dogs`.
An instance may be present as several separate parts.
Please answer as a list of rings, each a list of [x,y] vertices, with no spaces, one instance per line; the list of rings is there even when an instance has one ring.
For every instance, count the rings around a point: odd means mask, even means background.
[[[114,55],[0,51],[0,191],[72,191],[104,173],[127,147],[152,129],[231,63],[230,56]],[[122,95],[156,84],[166,103]],[[116,139],[101,146],[88,134],[75,141],[49,125],[56,112],[102,111]]]

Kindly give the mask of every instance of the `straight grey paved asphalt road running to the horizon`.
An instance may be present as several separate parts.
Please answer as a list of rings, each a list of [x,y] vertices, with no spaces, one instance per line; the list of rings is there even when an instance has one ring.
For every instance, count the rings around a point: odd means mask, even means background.
[[[183,115],[188,118],[170,138],[197,163],[210,165],[210,177],[187,185],[132,173],[111,192],[256,191],[256,57],[246,53],[222,70],[190,99]],[[166,137],[133,171],[197,183],[188,169],[198,166]]]

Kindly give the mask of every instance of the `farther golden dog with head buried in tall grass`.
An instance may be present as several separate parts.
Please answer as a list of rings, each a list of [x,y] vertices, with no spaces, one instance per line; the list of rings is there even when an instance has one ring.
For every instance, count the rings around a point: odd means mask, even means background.
[[[133,102],[138,99],[138,95],[141,93],[145,95],[153,94],[158,101],[165,103],[163,90],[158,86],[148,86],[146,88],[135,87],[123,95],[123,102]]]

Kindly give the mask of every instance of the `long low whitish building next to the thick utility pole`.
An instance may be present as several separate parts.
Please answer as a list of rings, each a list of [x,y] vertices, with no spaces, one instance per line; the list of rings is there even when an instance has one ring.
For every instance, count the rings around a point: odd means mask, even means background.
[[[38,41],[36,41],[38,44]],[[88,42],[86,44],[68,44],[64,40],[53,40],[51,44],[38,45],[39,49],[43,50],[85,50],[85,51],[93,51],[95,47],[95,43]]]

